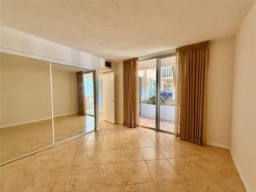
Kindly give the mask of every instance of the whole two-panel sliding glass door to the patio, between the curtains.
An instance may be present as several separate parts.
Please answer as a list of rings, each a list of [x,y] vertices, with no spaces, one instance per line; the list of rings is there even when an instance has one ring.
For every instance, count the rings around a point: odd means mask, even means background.
[[[174,132],[175,54],[139,62],[140,126]]]

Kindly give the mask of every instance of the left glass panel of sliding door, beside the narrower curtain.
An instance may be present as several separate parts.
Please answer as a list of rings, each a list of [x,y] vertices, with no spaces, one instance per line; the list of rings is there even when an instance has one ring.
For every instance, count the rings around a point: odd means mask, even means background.
[[[139,62],[140,126],[156,128],[156,59]]]

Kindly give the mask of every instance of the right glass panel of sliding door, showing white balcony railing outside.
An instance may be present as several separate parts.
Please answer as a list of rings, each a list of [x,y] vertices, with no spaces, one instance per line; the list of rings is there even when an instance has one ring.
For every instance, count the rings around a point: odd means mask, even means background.
[[[160,58],[159,129],[174,132],[175,121],[175,56]]]

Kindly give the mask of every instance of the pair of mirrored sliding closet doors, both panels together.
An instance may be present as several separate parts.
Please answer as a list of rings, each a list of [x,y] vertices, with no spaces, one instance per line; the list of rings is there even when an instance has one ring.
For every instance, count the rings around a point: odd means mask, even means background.
[[[95,130],[95,68],[0,59],[0,164]]]

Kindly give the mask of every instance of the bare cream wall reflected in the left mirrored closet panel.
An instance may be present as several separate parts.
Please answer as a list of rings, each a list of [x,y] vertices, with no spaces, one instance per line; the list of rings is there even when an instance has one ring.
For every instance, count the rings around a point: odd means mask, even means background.
[[[0,62],[1,128],[50,119],[51,98],[33,96],[51,94],[49,62],[4,53]]]

